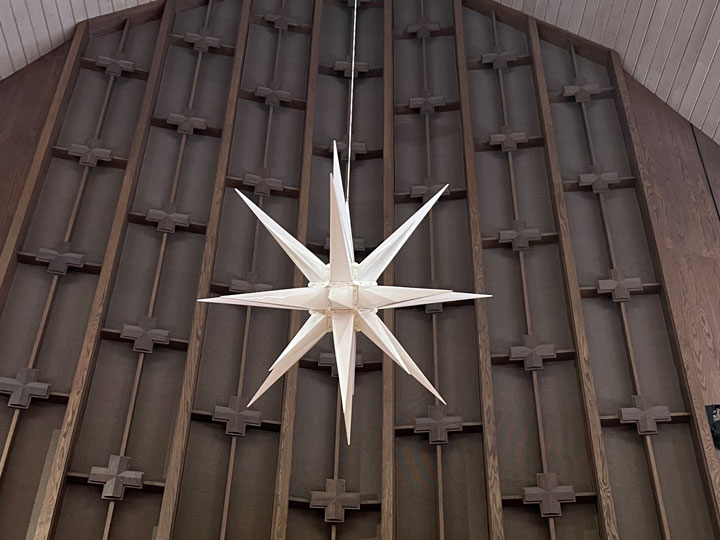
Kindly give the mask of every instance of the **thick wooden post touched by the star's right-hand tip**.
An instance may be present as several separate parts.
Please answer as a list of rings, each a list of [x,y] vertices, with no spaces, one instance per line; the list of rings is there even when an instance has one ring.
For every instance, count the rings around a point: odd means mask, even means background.
[[[475,292],[485,289],[482,260],[482,234],[478,207],[477,179],[475,176],[475,152],[470,121],[470,90],[465,57],[465,37],[462,19],[462,0],[453,0],[455,22],[455,47],[457,55],[458,88],[460,92],[460,115],[462,120],[463,157],[465,160],[465,188],[467,190],[468,225],[470,227],[470,250],[473,260],[473,285]],[[475,329],[478,339],[478,373],[480,377],[480,406],[483,423],[483,451],[485,461],[485,497],[487,500],[488,538],[505,538],[500,492],[500,468],[497,457],[497,432],[495,428],[495,404],[493,401],[490,358],[490,336],[485,304],[475,300]]]

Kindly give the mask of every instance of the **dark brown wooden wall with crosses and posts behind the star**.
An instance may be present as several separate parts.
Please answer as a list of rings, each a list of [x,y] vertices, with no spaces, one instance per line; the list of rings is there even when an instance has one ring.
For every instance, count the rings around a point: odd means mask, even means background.
[[[81,23],[0,255],[0,537],[705,539],[718,489],[615,55],[491,2],[167,0]],[[449,189],[385,313],[447,406],[299,313],[198,304],[321,257],[333,139],[361,259]]]

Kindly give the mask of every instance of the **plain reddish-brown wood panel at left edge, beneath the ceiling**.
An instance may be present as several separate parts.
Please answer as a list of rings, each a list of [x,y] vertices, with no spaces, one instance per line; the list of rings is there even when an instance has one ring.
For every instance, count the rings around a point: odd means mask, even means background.
[[[0,82],[0,155],[13,156],[0,181],[0,238],[10,229],[70,44]]]

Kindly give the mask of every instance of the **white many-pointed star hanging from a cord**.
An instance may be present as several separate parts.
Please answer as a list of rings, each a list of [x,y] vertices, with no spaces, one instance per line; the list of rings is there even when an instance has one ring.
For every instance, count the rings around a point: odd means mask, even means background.
[[[355,388],[356,332],[365,334],[395,363],[445,403],[400,342],[385,326],[377,312],[379,309],[422,306],[484,298],[490,295],[456,293],[447,289],[388,287],[378,285],[377,279],[446,188],[447,185],[362,262],[356,263],[350,228],[350,210],[343,193],[337,146],[333,143],[333,172],[330,174],[329,264],[322,262],[250,199],[239,190],[235,190],[309,282],[307,287],[231,294],[199,300],[199,302],[215,304],[296,309],[310,313],[308,320],[270,367],[270,375],[250,400],[248,407],[298,363],[327,332],[333,334],[348,444],[350,444],[352,398]]]

